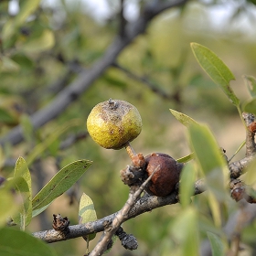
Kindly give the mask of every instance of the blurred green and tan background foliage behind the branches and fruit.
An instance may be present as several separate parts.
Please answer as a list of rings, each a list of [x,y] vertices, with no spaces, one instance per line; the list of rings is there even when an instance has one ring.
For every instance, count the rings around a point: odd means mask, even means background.
[[[140,5],[147,1],[128,2],[125,2],[127,8],[129,5],[133,8],[126,17],[133,22]],[[1,175],[11,176],[12,163],[19,155],[26,159],[37,144],[48,140],[59,128],[69,126],[72,120],[79,120],[80,124],[59,132],[58,138],[29,166],[34,191],[71,161],[93,161],[77,187],[56,199],[33,220],[31,231],[51,229],[53,213],[68,216],[71,224],[78,223],[82,192],[92,198],[98,218],[123,207],[128,187],[123,186],[119,171],[130,164],[128,155],[124,150],[101,148],[85,133],[87,116],[100,101],[121,99],[137,107],[144,123],[143,132],[132,143],[138,153],[164,152],[175,158],[190,153],[186,128],[176,122],[169,112],[171,108],[208,123],[219,145],[229,156],[234,154],[245,136],[240,117],[199,68],[189,43],[205,45],[224,60],[236,77],[231,83],[234,91],[241,101],[245,100],[248,94],[242,75],[256,76],[254,4],[255,1],[188,1],[156,16],[145,34],[123,50],[117,59],[118,66],[107,69],[58,118],[33,132],[27,117],[53,101],[81,69],[90,68],[104,54],[118,31],[120,3],[105,1],[110,12],[103,15],[100,4],[91,7],[87,0],[1,1],[0,135],[5,137],[17,124],[22,125],[26,135],[25,142],[5,144],[1,149]],[[11,8],[15,5],[19,5],[17,11]],[[27,11],[31,15],[27,16]],[[78,136],[78,141],[59,148],[71,136]],[[209,224],[207,198],[205,195],[194,198],[201,213],[198,230],[202,238],[204,230],[216,229]],[[234,207],[233,202],[229,204]],[[173,205],[127,221],[123,228],[133,233],[139,248],[127,252],[116,242],[110,255],[170,255],[170,251],[178,255],[178,242],[171,227],[181,212],[179,205]],[[97,238],[99,235],[91,241],[91,248]],[[77,239],[51,246],[59,255],[82,255],[86,244]]]

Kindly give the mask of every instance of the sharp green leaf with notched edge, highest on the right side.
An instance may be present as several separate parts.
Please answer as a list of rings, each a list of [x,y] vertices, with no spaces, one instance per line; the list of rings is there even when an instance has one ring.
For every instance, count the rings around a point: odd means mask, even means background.
[[[235,77],[226,64],[210,49],[197,43],[191,43],[190,45],[201,68],[219,85],[228,96],[229,100],[234,105],[239,106],[240,100],[229,86],[230,80],[235,80]]]

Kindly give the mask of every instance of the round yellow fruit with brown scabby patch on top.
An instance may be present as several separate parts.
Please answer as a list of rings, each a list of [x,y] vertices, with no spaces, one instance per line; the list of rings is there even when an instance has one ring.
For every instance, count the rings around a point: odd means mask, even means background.
[[[127,101],[110,100],[97,104],[88,116],[91,138],[104,148],[120,149],[142,131],[138,110]]]

